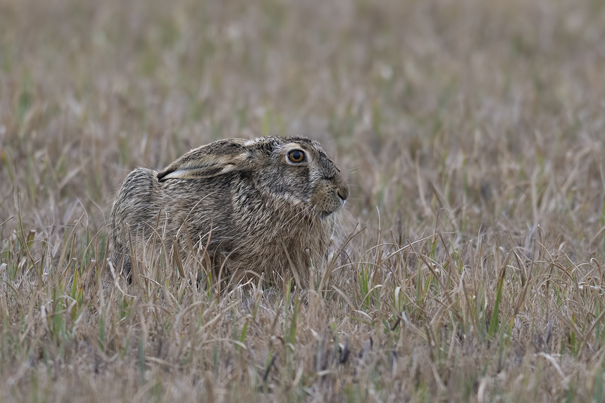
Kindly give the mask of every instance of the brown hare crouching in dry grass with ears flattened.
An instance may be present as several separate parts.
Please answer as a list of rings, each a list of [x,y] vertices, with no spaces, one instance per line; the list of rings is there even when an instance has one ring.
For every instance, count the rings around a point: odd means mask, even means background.
[[[327,259],[335,213],[348,196],[317,141],[215,141],[159,172],[128,175],[111,211],[110,260],[131,281],[131,258],[140,261],[155,234],[183,260],[205,250],[212,265],[206,269],[223,278],[264,272],[269,281],[287,276],[306,286],[310,265]]]

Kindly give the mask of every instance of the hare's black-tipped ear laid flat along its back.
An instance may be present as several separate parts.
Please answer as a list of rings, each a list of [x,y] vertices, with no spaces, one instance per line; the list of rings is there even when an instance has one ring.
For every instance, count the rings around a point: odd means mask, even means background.
[[[160,182],[168,179],[202,179],[223,173],[251,170],[253,155],[244,140],[220,140],[191,150],[157,174]]]

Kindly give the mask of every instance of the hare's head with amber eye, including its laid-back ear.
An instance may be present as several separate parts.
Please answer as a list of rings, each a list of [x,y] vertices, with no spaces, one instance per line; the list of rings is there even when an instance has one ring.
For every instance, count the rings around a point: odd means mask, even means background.
[[[296,205],[325,218],[344,205],[348,184],[317,141],[304,137],[221,140],[183,155],[158,174],[201,179],[246,172],[267,200]]]

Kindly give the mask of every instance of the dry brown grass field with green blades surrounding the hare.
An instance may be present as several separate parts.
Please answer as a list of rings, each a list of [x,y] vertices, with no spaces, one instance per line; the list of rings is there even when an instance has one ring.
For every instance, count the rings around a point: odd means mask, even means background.
[[[601,0],[0,0],[0,402],[603,401],[604,38]],[[130,170],[264,134],[347,172],[331,276],[106,271]]]

